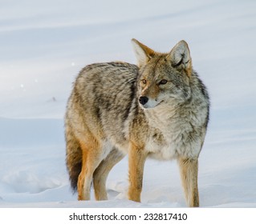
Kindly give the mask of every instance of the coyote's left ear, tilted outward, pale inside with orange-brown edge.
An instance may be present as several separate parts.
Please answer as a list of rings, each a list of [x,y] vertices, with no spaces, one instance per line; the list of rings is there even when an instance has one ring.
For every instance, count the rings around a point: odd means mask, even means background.
[[[144,44],[138,42],[136,39],[132,39],[132,46],[136,54],[139,67],[147,63],[155,54],[154,50],[150,49],[148,46],[144,46]]]

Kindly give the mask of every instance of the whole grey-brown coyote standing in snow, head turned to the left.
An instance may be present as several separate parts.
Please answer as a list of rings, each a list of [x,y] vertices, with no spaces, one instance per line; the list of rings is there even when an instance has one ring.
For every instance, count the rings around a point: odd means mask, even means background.
[[[67,102],[67,170],[79,200],[108,199],[106,179],[128,154],[128,199],[140,202],[146,158],[177,159],[188,206],[199,206],[198,156],[209,121],[209,95],[189,46],[158,53],[132,39],[137,66],[88,65]]]

